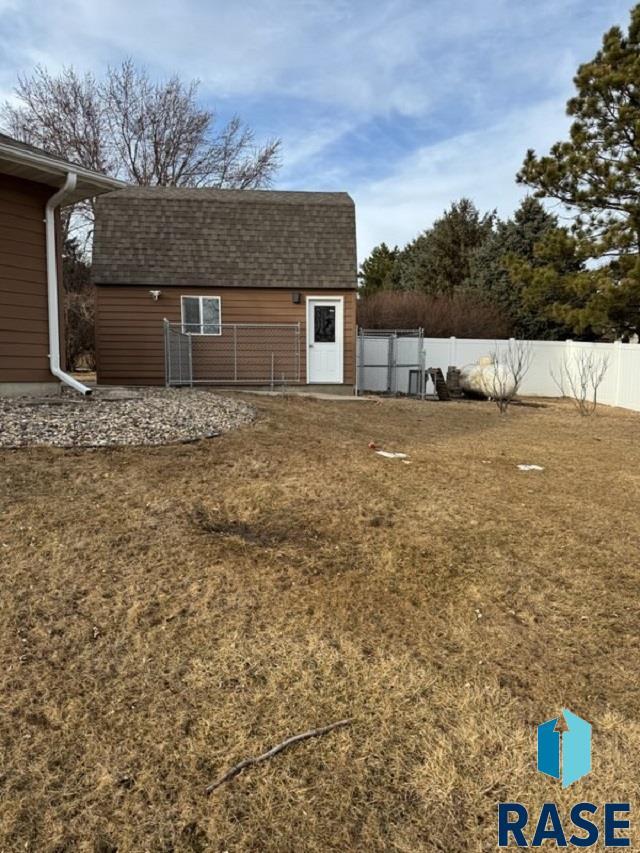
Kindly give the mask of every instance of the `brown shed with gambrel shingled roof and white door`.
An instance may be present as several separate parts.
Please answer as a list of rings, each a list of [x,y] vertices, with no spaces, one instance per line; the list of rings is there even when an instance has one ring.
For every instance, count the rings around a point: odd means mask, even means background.
[[[92,274],[99,383],[354,384],[346,193],[110,193],[97,203]]]

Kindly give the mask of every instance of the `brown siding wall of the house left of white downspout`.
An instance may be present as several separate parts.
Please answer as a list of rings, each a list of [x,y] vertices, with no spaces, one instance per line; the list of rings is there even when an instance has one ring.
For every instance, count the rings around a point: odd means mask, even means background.
[[[0,385],[56,382],[49,372],[44,224],[53,192],[0,175]]]

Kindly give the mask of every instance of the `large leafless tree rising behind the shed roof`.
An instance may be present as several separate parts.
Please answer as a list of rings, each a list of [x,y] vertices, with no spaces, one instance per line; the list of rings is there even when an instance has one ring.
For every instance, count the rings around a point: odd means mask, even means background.
[[[280,141],[255,143],[237,116],[221,129],[198,103],[197,80],[155,82],[125,60],[103,80],[64,68],[21,76],[17,104],[1,111],[8,132],[72,163],[144,186],[268,186]]]

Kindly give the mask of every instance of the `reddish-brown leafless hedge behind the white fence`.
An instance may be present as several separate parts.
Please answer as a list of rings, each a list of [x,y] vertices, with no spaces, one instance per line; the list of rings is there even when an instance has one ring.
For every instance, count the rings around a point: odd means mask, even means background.
[[[505,338],[512,332],[501,309],[475,294],[451,296],[385,290],[358,301],[358,325],[366,329],[423,328],[427,337]]]

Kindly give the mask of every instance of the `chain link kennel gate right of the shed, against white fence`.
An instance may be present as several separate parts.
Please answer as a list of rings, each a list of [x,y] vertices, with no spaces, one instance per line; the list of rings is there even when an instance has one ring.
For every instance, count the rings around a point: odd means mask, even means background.
[[[357,393],[425,395],[423,329],[358,328]]]

